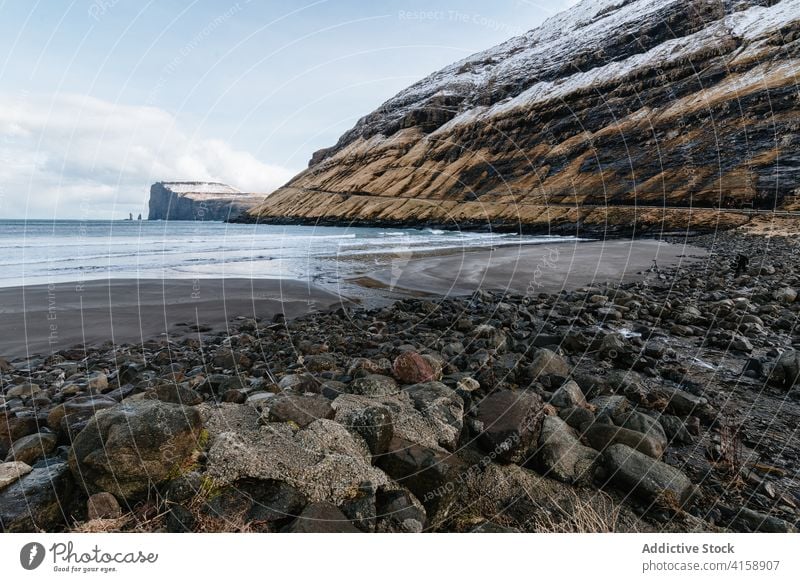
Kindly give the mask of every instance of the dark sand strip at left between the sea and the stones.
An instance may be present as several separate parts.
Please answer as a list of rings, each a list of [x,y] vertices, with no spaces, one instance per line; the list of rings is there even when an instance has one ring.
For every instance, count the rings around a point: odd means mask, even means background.
[[[10,287],[0,289],[0,356],[181,337],[196,334],[191,326],[198,325],[219,331],[237,316],[296,317],[340,301],[294,280],[117,279]]]

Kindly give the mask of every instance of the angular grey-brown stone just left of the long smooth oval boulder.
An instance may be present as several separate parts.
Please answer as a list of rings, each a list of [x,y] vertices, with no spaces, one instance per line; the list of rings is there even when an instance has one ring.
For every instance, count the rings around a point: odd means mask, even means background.
[[[598,456],[580,443],[566,422],[557,416],[544,417],[535,457],[542,475],[565,483],[589,481]]]

